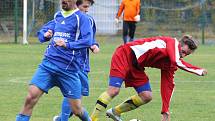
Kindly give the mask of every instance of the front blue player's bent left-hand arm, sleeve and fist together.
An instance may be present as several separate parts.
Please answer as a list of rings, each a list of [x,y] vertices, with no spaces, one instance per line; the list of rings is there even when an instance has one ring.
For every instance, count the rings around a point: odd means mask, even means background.
[[[41,43],[49,41],[54,33],[55,21],[49,21],[37,32],[38,39]]]

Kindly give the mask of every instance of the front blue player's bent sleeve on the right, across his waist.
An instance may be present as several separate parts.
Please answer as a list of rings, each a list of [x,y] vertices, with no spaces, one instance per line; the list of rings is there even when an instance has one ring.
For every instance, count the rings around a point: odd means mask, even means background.
[[[86,16],[80,17],[80,36],[77,41],[67,42],[66,47],[69,49],[89,48],[92,45],[93,30],[90,20]]]

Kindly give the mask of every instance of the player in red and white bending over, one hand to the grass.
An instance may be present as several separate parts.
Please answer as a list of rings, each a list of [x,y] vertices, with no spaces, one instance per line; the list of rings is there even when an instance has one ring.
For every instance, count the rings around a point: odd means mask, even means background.
[[[180,68],[199,76],[207,74],[207,70],[193,66],[182,58],[197,49],[196,41],[189,35],[178,42],[176,38],[158,36],[138,39],[119,46],[113,54],[110,68],[109,87],[97,100],[91,118],[98,120],[111,100],[118,95],[125,82],[126,87],[133,87],[137,95],[129,97],[120,105],[107,110],[106,114],[115,121],[121,121],[120,115],[134,110],[152,100],[149,78],[145,67],[161,70],[162,121],[170,121],[169,105],[174,89],[174,73]]]

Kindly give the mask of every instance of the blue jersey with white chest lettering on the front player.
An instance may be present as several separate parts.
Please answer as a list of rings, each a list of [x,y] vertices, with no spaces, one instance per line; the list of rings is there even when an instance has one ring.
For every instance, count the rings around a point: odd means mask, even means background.
[[[93,41],[93,31],[88,16],[78,9],[64,16],[62,11],[55,14],[54,20],[45,24],[38,32],[41,43],[50,40],[44,33],[53,31],[53,37],[45,52],[45,58],[65,70],[81,70],[82,63],[88,58],[85,53]],[[55,40],[63,39],[66,48],[55,46]]]

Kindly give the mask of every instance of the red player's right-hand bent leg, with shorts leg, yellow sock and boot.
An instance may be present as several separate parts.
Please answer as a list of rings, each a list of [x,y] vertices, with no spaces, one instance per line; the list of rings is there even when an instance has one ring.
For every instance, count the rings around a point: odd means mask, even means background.
[[[118,117],[120,117],[122,113],[134,110],[139,106],[150,102],[152,99],[150,83],[148,81],[147,75],[144,72],[144,68],[138,68],[138,66],[135,65],[136,63],[134,63],[135,58],[133,54],[130,56],[130,58],[131,59],[128,61],[130,71],[127,73],[127,78],[125,78],[125,86],[135,87],[138,95],[129,97],[123,103],[107,111],[107,114],[109,114],[114,120],[118,120]]]

